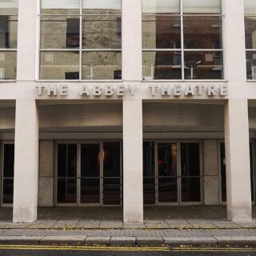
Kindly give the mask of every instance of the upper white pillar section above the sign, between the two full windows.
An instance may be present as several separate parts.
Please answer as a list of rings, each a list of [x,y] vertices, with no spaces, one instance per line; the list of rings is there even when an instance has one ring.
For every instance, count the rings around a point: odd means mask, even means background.
[[[142,4],[122,0],[122,79],[142,80]]]

